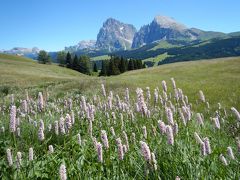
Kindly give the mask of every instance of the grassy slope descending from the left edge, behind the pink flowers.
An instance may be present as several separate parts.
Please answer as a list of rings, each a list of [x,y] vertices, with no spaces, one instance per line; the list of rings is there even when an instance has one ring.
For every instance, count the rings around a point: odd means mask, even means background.
[[[55,90],[59,86],[71,89],[69,84],[76,82],[76,87],[79,87],[80,80],[90,78],[56,64],[44,65],[31,59],[5,54],[0,54],[0,72],[0,90],[9,93],[25,88],[54,87]]]

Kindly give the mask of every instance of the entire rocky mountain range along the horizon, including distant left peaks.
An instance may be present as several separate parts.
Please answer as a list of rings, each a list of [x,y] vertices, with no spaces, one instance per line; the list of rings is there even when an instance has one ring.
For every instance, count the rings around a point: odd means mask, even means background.
[[[229,38],[240,35],[239,32],[230,34],[214,31],[203,31],[188,28],[167,16],[156,16],[152,22],[143,25],[138,31],[131,25],[114,18],[107,19],[99,30],[96,40],[82,40],[77,45],[65,47],[65,51],[76,54],[93,56],[114,53],[117,51],[134,50],[151,44],[174,42],[189,44],[196,41],[206,41],[213,38]],[[38,48],[13,48],[0,50],[2,53],[23,55],[36,58]],[[56,56],[56,53],[51,52]]]

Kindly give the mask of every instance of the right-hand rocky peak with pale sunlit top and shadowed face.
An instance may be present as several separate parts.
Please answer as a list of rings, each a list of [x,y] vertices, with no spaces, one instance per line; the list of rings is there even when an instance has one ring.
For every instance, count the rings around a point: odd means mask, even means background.
[[[135,34],[132,48],[161,40],[195,40],[198,36],[198,32],[188,29],[170,17],[156,16],[149,25],[141,27]]]

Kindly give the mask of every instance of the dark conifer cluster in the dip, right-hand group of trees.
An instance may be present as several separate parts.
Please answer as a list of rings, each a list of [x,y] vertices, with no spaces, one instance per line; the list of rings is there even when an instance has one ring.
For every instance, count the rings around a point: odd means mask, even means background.
[[[102,61],[102,69],[99,76],[111,76],[131,71],[135,69],[145,68],[146,65],[141,60],[127,60],[123,57],[111,56],[110,60]]]

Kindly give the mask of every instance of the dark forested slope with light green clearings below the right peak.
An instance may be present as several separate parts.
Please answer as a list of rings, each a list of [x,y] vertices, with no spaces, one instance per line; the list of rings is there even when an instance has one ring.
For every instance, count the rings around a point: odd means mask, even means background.
[[[146,60],[167,53],[161,63],[184,60],[211,59],[240,55],[240,37],[210,39],[206,41],[164,40],[142,46],[138,49],[115,52],[118,56]],[[170,57],[169,57],[170,56]]]

